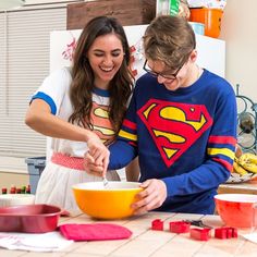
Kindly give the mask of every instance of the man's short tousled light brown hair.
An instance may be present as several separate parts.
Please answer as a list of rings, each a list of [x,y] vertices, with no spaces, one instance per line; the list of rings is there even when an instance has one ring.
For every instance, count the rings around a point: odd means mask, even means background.
[[[146,59],[163,61],[173,69],[186,62],[196,47],[195,34],[188,22],[170,15],[156,17],[143,40]]]

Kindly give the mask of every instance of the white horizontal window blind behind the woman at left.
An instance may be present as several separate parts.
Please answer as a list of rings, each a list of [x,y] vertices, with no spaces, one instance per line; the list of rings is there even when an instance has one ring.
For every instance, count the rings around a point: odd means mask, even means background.
[[[65,5],[0,13],[0,171],[26,170],[25,158],[46,156],[46,137],[24,119],[49,74],[50,32],[65,27]]]

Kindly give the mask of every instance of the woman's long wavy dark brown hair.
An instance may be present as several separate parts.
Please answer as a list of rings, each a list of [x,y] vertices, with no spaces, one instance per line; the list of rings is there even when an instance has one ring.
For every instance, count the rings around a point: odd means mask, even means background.
[[[88,49],[99,36],[114,33],[121,40],[125,53],[122,65],[110,82],[109,118],[115,135],[121,127],[126,105],[133,89],[133,76],[128,69],[130,47],[122,25],[113,17],[98,16],[84,27],[74,52],[72,68],[71,102],[74,112],[69,121],[93,130],[90,110],[93,107],[94,72],[86,58]]]

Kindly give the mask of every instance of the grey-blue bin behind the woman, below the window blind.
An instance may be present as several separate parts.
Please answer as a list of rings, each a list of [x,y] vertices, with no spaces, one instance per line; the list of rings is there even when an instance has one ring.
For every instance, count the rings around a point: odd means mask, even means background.
[[[37,189],[37,183],[46,167],[46,157],[33,157],[26,158],[27,170],[29,174],[30,193],[35,194]]]

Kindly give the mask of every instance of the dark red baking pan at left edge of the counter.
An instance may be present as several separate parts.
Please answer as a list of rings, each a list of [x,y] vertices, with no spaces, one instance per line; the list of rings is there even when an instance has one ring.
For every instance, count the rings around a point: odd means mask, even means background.
[[[54,231],[61,209],[50,205],[0,208],[0,232],[46,233]]]

